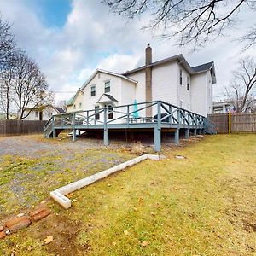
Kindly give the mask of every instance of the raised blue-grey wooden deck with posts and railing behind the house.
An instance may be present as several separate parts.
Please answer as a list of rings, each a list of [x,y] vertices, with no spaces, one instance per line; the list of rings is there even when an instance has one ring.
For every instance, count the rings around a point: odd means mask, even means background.
[[[144,115],[146,108],[152,109],[153,117]],[[154,150],[159,152],[161,131],[174,132],[175,143],[178,144],[180,130],[189,138],[191,132],[201,134],[212,127],[214,125],[204,116],[167,102],[155,101],[54,115],[44,126],[44,134],[45,137],[57,137],[63,130],[72,130],[73,140],[76,140],[77,131],[97,130],[103,132],[104,144],[108,145],[110,130],[154,131]]]

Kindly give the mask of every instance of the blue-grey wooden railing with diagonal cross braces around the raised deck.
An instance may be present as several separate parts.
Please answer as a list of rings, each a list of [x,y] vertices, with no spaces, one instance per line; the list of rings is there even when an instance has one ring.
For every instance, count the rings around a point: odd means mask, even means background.
[[[145,115],[147,108],[152,108],[153,115],[150,117]],[[55,126],[65,129],[65,127],[70,128],[79,125],[90,127],[91,125],[126,124],[129,127],[135,123],[159,123],[204,128],[207,125],[207,118],[167,102],[138,102],[137,104],[113,106],[112,108],[56,114],[44,126],[44,130],[47,131]]]

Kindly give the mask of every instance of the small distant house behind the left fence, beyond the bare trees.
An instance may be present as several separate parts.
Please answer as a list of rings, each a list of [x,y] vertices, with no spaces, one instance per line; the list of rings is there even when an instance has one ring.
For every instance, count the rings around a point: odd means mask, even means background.
[[[65,113],[63,108],[57,108],[52,105],[42,106],[40,108],[26,108],[24,116],[26,116],[29,111],[29,115],[24,120],[40,120],[46,121],[51,118],[53,114]]]

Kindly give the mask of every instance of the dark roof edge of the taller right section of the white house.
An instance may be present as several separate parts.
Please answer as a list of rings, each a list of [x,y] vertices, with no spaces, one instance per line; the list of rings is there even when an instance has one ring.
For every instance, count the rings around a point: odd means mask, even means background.
[[[186,59],[184,58],[184,56],[182,54],[174,55],[174,56],[168,57],[168,58],[160,60],[160,61],[154,61],[148,66],[144,65],[141,67],[134,68],[132,70],[128,70],[125,73],[122,73],[122,75],[129,76],[129,74],[141,71],[141,70],[145,69],[146,67],[155,67],[155,66],[159,66],[161,64],[166,64],[166,63],[172,62],[172,61],[178,61],[178,63],[183,65],[183,67],[190,74],[202,73],[202,72],[206,72],[206,71],[210,70],[211,75],[212,75],[212,82],[213,82],[213,84],[216,83],[215,68],[214,68],[213,61],[205,63],[205,64],[201,64],[199,66],[190,67],[189,62],[186,61]]]

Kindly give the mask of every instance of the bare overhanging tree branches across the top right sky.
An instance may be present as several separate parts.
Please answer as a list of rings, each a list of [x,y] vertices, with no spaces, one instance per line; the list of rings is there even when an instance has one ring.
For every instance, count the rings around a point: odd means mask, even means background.
[[[204,46],[236,24],[239,12],[256,10],[255,0],[103,0],[118,15],[129,19],[149,14],[152,20],[144,28],[160,30],[161,38],[177,38],[179,45]],[[251,35],[245,48],[255,42],[256,25],[244,35]],[[252,44],[253,43],[253,44]]]

